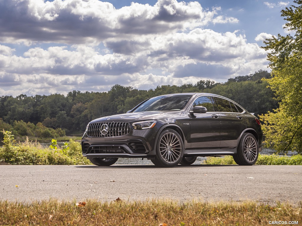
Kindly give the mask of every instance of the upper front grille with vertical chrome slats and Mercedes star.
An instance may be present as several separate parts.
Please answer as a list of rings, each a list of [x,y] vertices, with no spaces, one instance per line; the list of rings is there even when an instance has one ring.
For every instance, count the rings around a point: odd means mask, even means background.
[[[89,137],[117,137],[126,135],[129,132],[130,127],[127,122],[102,122],[90,124],[87,135]]]

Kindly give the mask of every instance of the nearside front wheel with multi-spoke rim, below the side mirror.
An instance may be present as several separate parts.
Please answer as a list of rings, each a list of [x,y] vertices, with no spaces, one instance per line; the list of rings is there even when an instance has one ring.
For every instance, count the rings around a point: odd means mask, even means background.
[[[166,129],[160,133],[156,144],[156,157],[152,159],[157,167],[178,165],[184,155],[184,144],[178,132]]]

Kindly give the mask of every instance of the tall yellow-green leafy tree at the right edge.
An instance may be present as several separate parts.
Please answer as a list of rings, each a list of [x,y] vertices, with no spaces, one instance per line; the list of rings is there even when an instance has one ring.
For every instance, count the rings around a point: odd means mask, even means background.
[[[276,92],[279,108],[261,116],[266,145],[277,152],[297,150],[302,153],[302,0],[281,11],[284,29],[293,34],[266,39],[263,49],[272,77],[265,79]]]

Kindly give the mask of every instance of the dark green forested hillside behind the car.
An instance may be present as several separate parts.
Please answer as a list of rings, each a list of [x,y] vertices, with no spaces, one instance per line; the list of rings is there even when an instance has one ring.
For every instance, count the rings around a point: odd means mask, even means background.
[[[162,85],[149,90],[116,84],[103,93],[73,90],[66,96],[1,96],[0,130],[10,130],[19,136],[44,138],[65,134],[80,136],[92,119],[125,113],[149,97],[169,93],[214,93],[238,102],[255,115],[261,115],[278,108],[274,92],[262,79],[270,77],[267,71],[259,70],[254,74],[230,78],[225,83],[200,80],[194,85]]]

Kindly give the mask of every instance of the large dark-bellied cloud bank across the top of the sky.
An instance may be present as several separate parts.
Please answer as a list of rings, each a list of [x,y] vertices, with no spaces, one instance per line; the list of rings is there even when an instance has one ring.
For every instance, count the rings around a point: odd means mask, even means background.
[[[120,9],[98,0],[0,1],[0,41],[8,43],[100,43],[107,38],[184,31],[207,25],[217,9],[198,2],[159,0]],[[218,18],[215,23],[235,21]]]

